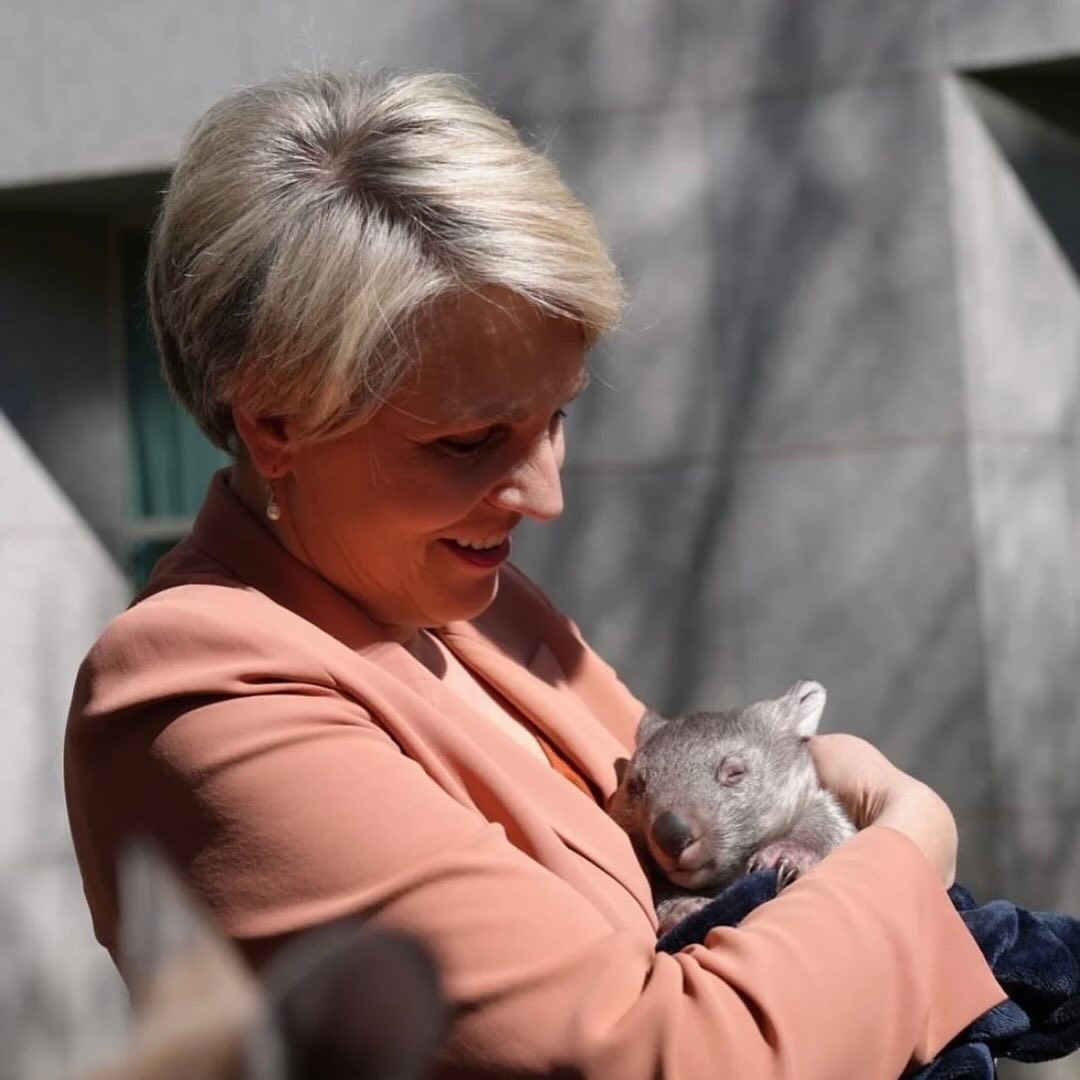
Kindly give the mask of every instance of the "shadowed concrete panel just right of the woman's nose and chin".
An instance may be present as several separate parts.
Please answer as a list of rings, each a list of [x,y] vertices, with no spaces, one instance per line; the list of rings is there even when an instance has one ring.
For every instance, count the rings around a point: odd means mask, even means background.
[[[515,534],[514,561],[656,708],[744,700],[719,465],[568,469],[566,511]]]

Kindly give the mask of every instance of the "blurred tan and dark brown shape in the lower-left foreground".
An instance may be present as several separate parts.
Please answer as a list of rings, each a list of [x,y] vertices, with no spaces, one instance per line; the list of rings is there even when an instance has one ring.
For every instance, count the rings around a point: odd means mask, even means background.
[[[157,848],[121,860],[120,966],[134,1026],[81,1080],[419,1080],[449,1011],[418,942],[339,919],[251,973]]]

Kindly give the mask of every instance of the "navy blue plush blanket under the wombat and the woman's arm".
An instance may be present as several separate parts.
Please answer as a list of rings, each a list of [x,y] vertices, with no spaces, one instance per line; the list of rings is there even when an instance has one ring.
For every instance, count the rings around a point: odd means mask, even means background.
[[[657,949],[700,943],[713,927],[738,926],[775,895],[775,870],[740,878],[664,934]],[[997,1057],[1049,1062],[1080,1049],[1080,919],[1004,900],[976,904],[960,886],[949,900],[1009,1000],[964,1028],[913,1080],[993,1080]]]

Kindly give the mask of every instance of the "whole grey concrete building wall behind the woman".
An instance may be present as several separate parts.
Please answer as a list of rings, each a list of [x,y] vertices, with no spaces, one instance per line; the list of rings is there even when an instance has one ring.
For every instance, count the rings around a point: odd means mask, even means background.
[[[953,804],[976,893],[1080,910],[1080,306],[1072,225],[1040,187],[1068,188],[1078,154],[961,75],[1076,55],[1080,0],[0,0],[0,188],[24,199],[161,170],[212,100],[291,65],[473,77],[550,146],[634,292],[573,406],[567,512],[525,531],[519,561],[662,707],[820,678],[831,727]],[[38,1014],[104,1045],[118,1028],[78,1023],[56,988],[60,955],[104,975],[70,866],[48,860],[62,699],[123,594],[122,496],[102,480],[123,417],[100,392],[116,357],[94,292],[108,215],[36,213],[0,225],[0,314],[24,342],[0,374],[0,475],[52,509],[32,529],[18,515],[32,573],[6,569],[0,516],[5,654],[32,673],[0,739],[4,798],[32,795],[18,820],[50,824],[48,842],[8,826],[8,906],[66,935],[41,946],[32,993],[59,997]],[[50,366],[58,403],[97,403],[65,413],[89,457],[21,389]],[[95,393],[71,381],[87,370]],[[65,645],[43,659],[54,624]]]

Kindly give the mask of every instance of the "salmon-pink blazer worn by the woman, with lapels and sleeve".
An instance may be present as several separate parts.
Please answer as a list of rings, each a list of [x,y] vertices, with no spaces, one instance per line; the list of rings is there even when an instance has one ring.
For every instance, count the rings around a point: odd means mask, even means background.
[[[642,704],[512,568],[436,631],[609,796]],[[215,477],[75,690],[68,811],[116,956],[151,833],[253,964],[355,913],[458,1007],[441,1076],[894,1080],[1002,998],[921,853],[880,826],[738,930],[658,956],[646,877],[582,791],[384,639]]]

